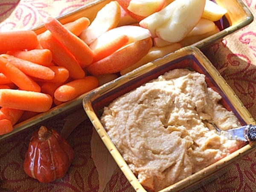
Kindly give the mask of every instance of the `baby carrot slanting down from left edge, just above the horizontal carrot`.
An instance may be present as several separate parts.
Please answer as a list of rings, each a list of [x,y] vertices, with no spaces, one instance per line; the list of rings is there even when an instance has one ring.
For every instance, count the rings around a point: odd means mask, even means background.
[[[0,56],[0,71],[22,90],[41,91],[41,87],[35,81],[2,56]]]

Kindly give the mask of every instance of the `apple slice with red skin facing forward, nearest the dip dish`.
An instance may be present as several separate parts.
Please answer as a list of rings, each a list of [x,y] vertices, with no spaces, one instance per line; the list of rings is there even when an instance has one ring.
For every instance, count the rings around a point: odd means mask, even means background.
[[[86,70],[93,76],[118,73],[140,61],[148,53],[152,45],[151,37],[136,41],[127,47],[117,50],[112,55],[90,64],[86,67]]]

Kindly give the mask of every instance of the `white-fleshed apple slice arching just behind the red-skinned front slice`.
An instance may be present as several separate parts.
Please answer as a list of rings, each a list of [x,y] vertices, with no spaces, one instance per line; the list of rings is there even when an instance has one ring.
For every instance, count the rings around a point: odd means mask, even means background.
[[[99,47],[103,47],[106,44],[111,44],[111,42],[114,39],[121,37],[122,35],[128,36],[129,40],[127,44],[151,37],[151,33],[149,32],[149,30],[144,29],[140,26],[134,26],[134,25],[119,26],[99,36],[99,38],[97,38],[95,41],[93,41],[93,43],[90,44],[90,48],[94,50]]]

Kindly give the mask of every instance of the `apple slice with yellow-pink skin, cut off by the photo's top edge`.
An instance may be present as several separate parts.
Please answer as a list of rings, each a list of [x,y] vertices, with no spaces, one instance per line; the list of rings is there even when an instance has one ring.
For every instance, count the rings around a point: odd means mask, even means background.
[[[131,0],[127,9],[136,15],[148,17],[160,11],[166,0]]]

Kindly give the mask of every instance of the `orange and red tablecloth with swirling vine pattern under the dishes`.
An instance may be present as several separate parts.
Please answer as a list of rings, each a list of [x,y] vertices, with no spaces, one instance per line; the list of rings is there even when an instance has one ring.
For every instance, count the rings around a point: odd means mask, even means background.
[[[256,17],[256,0],[243,1]],[[0,31],[32,29],[47,15],[56,17],[85,3],[87,0],[0,0]],[[256,119],[256,21],[204,48],[203,52]],[[81,115],[85,115],[82,108]],[[60,130],[66,122],[65,117],[56,116],[45,124]],[[67,175],[48,184],[39,183],[23,172],[22,164],[31,132],[37,128],[0,143],[0,187],[19,192],[98,191],[98,173],[91,158],[90,139],[93,129],[90,122],[82,122],[67,138],[75,150],[75,158]],[[105,191],[134,190],[117,168]],[[256,151],[233,163],[224,175],[196,191],[256,191]]]

